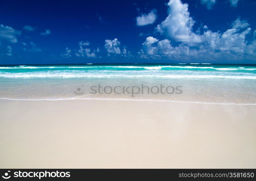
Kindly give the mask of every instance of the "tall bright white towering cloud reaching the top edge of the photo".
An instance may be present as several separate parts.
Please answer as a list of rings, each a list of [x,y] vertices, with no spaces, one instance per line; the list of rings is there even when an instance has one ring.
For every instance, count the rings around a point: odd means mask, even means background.
[[[200,35],[192,32],[195,21],[189,16],[188,4],[183,4],[180,0],[170,0],[168,6],[168,17],[157,25],[156,30],[177,42],[188,45],[200,43]]]

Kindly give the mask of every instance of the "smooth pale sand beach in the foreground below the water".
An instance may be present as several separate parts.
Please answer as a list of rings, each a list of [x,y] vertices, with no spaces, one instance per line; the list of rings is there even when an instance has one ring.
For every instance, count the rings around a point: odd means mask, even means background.
[[[0,100],[0,168],[256,168],[256,105]]]

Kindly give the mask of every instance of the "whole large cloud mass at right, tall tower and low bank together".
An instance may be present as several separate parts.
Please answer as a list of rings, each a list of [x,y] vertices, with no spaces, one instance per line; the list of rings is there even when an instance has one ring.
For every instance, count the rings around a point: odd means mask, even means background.
[[[224,33],[213,32],[207,25],[202,25],[204,32],[195,34],[188,5],[180,0],[170,0],[168,5],[171,8],[168,9],[168,17],[157,26],[157,30],[168,39],[160,41],[152,36],[147,37],[138,52],[141,58],[235,61],[256,56],[256,39],[251,43],[245,40],[251,31],[247,21],[237,18],[232,22],[232,28]],[[178,45],[173,46],[171,41],[176,41],[175,45],[178,42]]]

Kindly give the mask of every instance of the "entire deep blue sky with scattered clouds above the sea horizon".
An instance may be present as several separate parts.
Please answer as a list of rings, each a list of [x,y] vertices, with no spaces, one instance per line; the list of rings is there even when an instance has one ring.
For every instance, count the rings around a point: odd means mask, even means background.
[[[1,0],[0,64],[256,64],[255,0]]]

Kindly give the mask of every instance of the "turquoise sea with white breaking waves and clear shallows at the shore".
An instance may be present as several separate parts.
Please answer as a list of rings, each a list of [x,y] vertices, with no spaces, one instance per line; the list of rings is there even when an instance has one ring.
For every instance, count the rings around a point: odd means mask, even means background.
[[[256,65],[79,64],[0,66],[0,98],[123,99],[256,104]],[[91,86],[181,86],[182,94],[91,94]],[[83,92],[75,94],[74,91]]]

